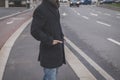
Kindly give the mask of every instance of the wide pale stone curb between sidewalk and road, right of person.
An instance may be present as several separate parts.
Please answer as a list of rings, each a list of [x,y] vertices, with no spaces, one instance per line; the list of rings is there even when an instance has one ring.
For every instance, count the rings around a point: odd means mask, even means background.
[[[65,46],[66,60],[80,80],[97,80],[84,64]]]

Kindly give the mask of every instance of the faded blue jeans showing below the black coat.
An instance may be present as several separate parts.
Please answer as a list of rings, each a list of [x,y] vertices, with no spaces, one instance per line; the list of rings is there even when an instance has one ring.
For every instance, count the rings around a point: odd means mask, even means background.
[[[57,73],[58,73],[58,68],[53,68],[53,69],[44,68],[43,80],[56,80]]]

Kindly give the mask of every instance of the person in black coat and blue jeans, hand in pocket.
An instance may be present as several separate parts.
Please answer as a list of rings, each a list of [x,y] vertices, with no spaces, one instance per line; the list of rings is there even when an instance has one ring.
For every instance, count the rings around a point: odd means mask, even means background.
[[[43,0],[33,14],[31,34],[41,41],[38,61],[44,68],[43,80],[56,80],[58,68],[66,63],[58,8],[58,0]]]

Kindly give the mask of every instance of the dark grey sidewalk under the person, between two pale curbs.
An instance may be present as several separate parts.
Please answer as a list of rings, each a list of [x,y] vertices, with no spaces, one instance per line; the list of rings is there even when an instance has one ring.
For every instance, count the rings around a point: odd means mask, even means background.
[[[30,25],[16,40],[8,58],[3,80],[42,80],[43,70],[37,62],[39,42],[30,35]],[[58,80],[79,80],[70,66],[59,69]]]

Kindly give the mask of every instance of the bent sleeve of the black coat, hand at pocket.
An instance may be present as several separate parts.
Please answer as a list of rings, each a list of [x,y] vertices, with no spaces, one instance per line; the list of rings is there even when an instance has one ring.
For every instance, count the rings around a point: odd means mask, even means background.
[[[39,13],[38,13],[39,12]],[[42,28],[46,24],[45,17],[37,9],[34,11],[33,20],[31,24],[31,35],[38,41],[43,42],[49,46],[52,45],[53,38],[48,36]]]

